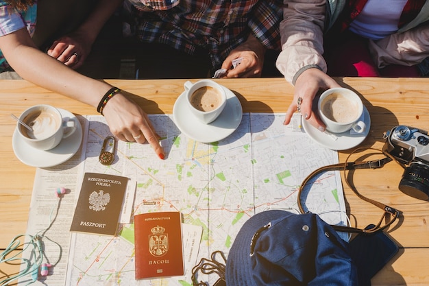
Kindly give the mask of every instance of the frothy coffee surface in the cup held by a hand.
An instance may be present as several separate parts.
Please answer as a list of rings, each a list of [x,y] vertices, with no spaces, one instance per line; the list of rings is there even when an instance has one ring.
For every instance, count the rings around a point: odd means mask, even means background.
[[[358,117],[358,106],[342,93],[331,93],[321,104],[321,112],[338,123],[351,123]]]

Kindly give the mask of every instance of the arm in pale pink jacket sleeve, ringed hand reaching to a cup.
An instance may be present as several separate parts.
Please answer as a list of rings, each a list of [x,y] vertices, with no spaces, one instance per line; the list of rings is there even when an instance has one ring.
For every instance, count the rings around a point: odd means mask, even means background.
[[[323,28],[326,0],[285,0],[283,21],[280,23],[282,51],[276,66],[284,78],[295,85],[293,102],[289,105],[284,124],[289,124],[302,98],[304,119],[324,130],[325,126],[312,110],[312,102],[319,88],[339,86],[326,75],[323,59]]]

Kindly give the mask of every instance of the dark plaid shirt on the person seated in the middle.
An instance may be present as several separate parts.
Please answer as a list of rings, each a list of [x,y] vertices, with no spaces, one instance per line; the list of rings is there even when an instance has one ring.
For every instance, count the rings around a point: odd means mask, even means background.
[[[136,36],[193,54],[209,51],[214,69],[253,33],[268,49],[281,49],[282,0],[127,0]]]

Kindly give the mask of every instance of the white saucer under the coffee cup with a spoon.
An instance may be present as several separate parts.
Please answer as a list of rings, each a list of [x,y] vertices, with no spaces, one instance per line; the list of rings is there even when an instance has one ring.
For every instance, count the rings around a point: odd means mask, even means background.
[[[70,120],[75,121],[75,132],[68,138],[63,139],[55,148],[43,151],[28,145],[25,141],[19,140],[18,130],[15,128],[12,136],[12,147],[14,148],[15,156],[22,163],[39,168],[53,167],[69,160],[79,150],[82,141],[82,126],[80,126],[79,120],[67,110],[60,108],[58,110],[60,110],[63,118],[69,117]]]

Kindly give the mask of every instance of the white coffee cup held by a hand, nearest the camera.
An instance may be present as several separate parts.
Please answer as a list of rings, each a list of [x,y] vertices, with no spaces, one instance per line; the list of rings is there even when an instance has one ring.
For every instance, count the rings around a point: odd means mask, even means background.
[[[330,88],[323,92],[319,97],[318,110],[326,130],[332,133],[343,133],[351,129],[356,133],[365,131],[366,124],[361,119],[362,100],[348,88]]]

